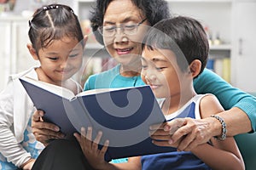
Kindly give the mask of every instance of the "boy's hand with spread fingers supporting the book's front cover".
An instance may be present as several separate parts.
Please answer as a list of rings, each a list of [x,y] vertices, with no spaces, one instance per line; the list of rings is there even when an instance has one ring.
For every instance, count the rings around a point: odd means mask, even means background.
[[[74,133],[74,136],[79,141],[81,149],[83,150],[84,156],[87,161],[89,161],[90,166],[96,169],[104,169],[107,161],[105,161],[104,156],[108,150],[109,140],[106,140],[102,150],[98,149],[98,144],[102,139],[102,132],[98,132],[96,139],[92,141],[92,128],[88,127],[87,133],[85,133],[85,128],[81,128],[81,135],[79,133]]]

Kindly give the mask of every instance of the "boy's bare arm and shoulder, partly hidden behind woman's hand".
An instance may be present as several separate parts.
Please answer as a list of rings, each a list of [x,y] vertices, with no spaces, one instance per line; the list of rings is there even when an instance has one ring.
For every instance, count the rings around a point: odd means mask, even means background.
[[[215,115],[224,111],[218,99],[213,95],[207,95],[201,99],[200,113],[201,118]],[[244,169],[244,162],[241,153],[233,137],[224,141],[211,139],[212,145],[201,144],[191,150],[195,156],[199,157],[212,169]]]

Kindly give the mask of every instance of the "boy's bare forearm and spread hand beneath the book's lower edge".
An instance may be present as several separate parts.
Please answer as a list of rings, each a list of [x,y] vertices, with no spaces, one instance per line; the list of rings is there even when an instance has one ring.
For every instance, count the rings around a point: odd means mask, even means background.
[[[108,150],[109,141],[105,141],[101,150],[98,149],[98,144],[102,138],[102,132],[99,132],[96,139],[92,141],[92,128],[88,127],[87,133],[85,133],[84,127],[81,128],[81,136],[79,133],[74,133],[74,136],[79,141],[84,156],[90,163],[90,166],[95,169],[102,170],[132,170],[141,169],[140,156],[129,158],[125,163],[109,163],[104,160],[105,153]]]

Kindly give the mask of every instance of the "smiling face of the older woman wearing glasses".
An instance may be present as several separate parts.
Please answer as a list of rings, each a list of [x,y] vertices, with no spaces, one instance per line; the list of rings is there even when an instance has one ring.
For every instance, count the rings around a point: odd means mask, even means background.
[[[141,43],[149,25],[145,19],[131,1],[113,0],[109,3],[103,19],[103,38],[108,53],[120,64],[140,62]]]

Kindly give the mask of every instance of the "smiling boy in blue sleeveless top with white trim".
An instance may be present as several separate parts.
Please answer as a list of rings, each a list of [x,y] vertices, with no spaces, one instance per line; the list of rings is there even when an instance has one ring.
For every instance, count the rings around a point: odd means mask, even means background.
[[[212,116],[222,122],[215,116],[224,111],[218,99],[212,94],[196,94],[193,87],[193,78],[205,68],[209,51],[201,24],[187,17],[162,20],[148,31],[144,42],[142,78],[160,99],[166,120],[185,112],[192,118]],[[166,124],[168,122],[150,127],[153,143],[177,147],[177,143],[169,143],[172,133],[163,128]],[[231,137],[223,141],[211,139],[191,151],[137,156],[129,158],[127,163],[112,164],[104,161],[108,142],[102,150],[96,147],[102,135],[99,133],[91,142],[91,128],[87,133],[82,128],[81,137],[76,134],[84,156],[95,169],[244,169],[241,154]]]

